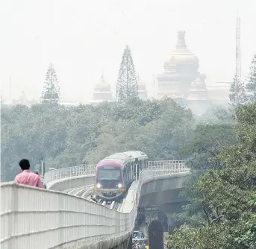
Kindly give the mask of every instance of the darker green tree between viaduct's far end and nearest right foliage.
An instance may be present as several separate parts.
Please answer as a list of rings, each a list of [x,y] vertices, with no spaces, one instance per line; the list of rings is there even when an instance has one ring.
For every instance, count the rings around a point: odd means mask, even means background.
[[[196,181],[205,171],[210,168],[219,168],[218,160],[210,160],[218,155],[223,146],[234,145],[236,142],[234,129],[230,124],[200,124],[193,131],[190,141],[187,140],[183,148],[180,149],[180,157],[187,158],[187,165],[190,166],[192,174],[187,178],[181,195],[190,201],[190,204],[182,207],[181,213],[171,215],[175,227],[181,224],[190,224],[193,227],[199,226],[199,221],[203,220],[205,213],[195,186]]]

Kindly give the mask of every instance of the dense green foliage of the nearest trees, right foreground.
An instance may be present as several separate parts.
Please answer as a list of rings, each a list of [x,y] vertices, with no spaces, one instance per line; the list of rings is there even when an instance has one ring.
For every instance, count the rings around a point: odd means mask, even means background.
[[[193,184],[194,203],[201,204],[199,226],[180,227],[169,248],[255,248],[256,104],[236,110],[234,144],[219,153]]]

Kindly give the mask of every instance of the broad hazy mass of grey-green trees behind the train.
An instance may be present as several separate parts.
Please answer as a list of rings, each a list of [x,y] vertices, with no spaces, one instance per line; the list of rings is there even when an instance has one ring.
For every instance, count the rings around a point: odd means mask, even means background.
[[[128,150],[144,151],[151,160],[177,158],[192,130],[190,110],[169,98],[96,107],[3,107],[1,177],[13,180],[22,157],[28,157],[32,166],[44,157],[48,168],[98,163],[109,154]]]

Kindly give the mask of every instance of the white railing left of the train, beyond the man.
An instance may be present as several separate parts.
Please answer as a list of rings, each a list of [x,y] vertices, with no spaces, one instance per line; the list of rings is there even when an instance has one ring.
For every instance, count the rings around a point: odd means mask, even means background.
[[[43,177],[44,183],[49,183],[51,180],[57,180],[66,177],[78,177],[80,175],[92,176],[95,174],[96,165],[74,166],[69,168],[58,168],[47,171]]]

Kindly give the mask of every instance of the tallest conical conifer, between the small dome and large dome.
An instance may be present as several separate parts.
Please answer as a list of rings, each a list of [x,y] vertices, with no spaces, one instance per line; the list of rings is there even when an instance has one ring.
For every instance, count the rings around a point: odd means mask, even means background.
[[[138,97],[137,77],[131,50],[126,45],[122,54],[119,75],[116,83],[116,99],[118,101],[131,101]]]

